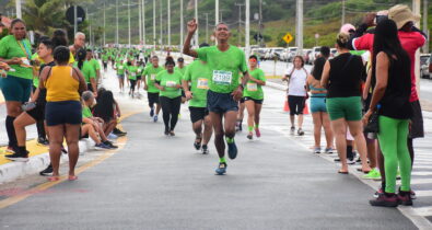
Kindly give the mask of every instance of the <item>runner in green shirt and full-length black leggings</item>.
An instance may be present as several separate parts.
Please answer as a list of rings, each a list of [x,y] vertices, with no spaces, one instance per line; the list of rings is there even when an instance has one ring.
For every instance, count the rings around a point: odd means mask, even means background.
[[[159,100],[163,112],[163,122],[165,124],[165,135],[175,136],[174,128],[178,120],[182,104],[182,79],[178,71],[174,71],[175,61],[172,57],[166,58],[166,70],[156,76],[154,85],[160,90]]]

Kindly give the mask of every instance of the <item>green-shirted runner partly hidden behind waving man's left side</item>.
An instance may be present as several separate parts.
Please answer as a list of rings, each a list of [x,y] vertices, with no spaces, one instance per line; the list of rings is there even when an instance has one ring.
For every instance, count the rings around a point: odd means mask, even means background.
[[[209,46],[201,44],[201,47]],[[196,59],[190,64],[186,73],[183,76],[183,89],[186,99],[189,101],[190,120],[192,123],[192,130],[196,135],[194,147],[202,153],[209,153],[208,143],[211,138],[212,127],[207,110],[207,92],[209,90],[209,80],[211,71],[205,61]],[[190,87],[189,87],[190,85]],[[205,125],[202,134],[202,125]]]

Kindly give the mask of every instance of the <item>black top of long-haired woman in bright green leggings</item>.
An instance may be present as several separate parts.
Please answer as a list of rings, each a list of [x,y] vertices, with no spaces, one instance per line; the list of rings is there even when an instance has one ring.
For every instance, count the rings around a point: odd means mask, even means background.
[[[378,114],[395,119],[408,119],[412,115],[409,103],[411,95],[411,61],[408,55],[399,59],[390,58],[388,81],[383,99],[380,101]]]

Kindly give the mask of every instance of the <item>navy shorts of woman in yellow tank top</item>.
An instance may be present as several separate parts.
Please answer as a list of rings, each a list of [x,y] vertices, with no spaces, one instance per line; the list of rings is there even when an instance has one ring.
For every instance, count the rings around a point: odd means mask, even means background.
[[[79,101],[47,102],[45,107],[47,126],[80,125],[82,123],[81,110]]]

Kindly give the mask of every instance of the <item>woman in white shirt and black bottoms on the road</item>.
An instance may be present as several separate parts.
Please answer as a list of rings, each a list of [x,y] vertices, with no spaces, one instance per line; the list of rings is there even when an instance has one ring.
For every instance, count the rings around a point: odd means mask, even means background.
[[[307,71],[304,68],[304,59],[302,56],[295,56],[293,60],[293,68],[289,69],[282,81],[288,81],[288,104],[290,106],[290,122],[291,122],[291,134],[295,131],[294,119],[297,115],[297,135],[303,136],[303,108],[306,102],[306,79]]]

